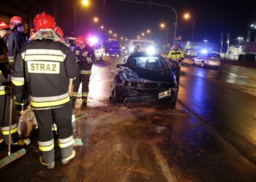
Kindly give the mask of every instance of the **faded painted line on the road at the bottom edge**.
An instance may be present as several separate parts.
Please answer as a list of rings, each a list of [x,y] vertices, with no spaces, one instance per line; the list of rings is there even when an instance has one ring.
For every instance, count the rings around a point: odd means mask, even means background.
[[[157,149],[156,146],[153,144],[151,145],[153,149],[154,156],[157,159],[157,163],[160,166],[162,173],[165,175],[165,178],[168,182],[171,181],[178,181],[173,173],[173,171],[170,169],[169,165],[167,164],[166,160],[164,157],[162,157],[161,152],[159,149]]]

